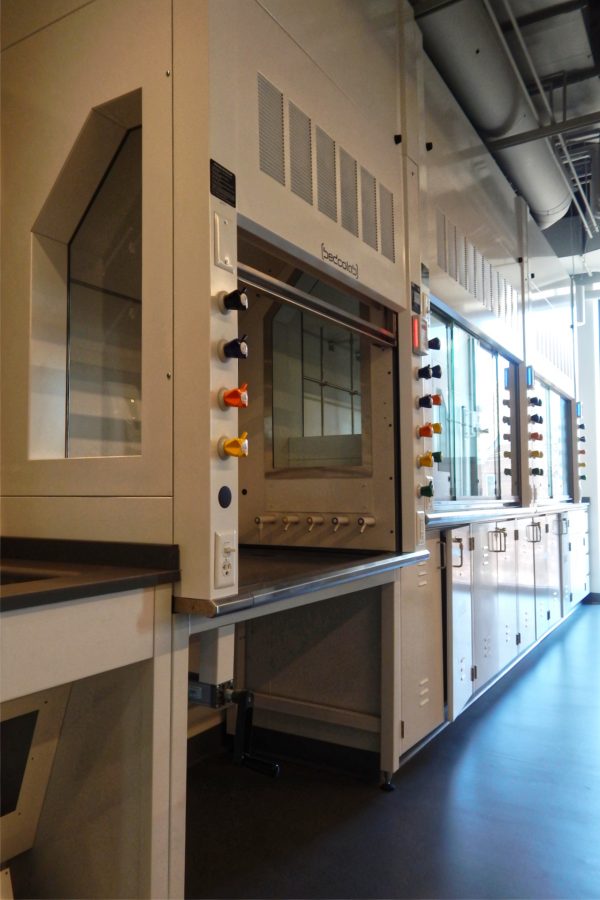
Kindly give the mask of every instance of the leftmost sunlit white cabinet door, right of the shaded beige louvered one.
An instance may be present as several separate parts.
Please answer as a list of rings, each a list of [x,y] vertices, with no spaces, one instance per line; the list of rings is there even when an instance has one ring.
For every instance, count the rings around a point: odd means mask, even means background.
[[[469,526],[456,528],[446,539],[450,590],[448,596],[448,718],[455,719],[473,692],[473,628]]]

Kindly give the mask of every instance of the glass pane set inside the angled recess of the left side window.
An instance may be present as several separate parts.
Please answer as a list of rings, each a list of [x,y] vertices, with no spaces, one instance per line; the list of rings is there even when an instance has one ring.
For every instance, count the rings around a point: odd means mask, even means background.
[[[69,243],[70,457],[141,451],[141,163],[141,128],[135,128]]]

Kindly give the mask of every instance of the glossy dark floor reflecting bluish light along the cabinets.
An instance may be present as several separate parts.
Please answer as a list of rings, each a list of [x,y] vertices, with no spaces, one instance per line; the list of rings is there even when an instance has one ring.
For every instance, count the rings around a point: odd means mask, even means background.
[[[395,778],[206,759],[190,898],[600,898],[600,606],[583,606]]]

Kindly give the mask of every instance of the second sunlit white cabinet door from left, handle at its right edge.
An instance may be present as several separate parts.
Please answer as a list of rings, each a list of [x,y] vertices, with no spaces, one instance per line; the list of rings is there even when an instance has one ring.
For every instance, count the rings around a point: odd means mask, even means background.
[[[472,525],[473,572],[473,665],[475,690],[498,672],[498,565],[496,553],[490,549],[490,524]]]

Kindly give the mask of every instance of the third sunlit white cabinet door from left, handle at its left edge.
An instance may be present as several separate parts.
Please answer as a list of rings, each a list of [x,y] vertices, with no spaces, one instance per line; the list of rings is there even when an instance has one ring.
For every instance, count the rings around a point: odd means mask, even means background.
[[[498,566],[498,661],[501,669],[517,655],[517,557],[514,522],[497,525],[492,544]]]

